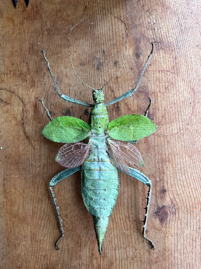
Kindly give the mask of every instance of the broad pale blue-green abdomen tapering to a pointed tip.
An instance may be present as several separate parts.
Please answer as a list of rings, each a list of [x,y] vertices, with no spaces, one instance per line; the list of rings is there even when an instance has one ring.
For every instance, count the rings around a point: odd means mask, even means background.
[[[92,150],[83,164],[82,195],[94,220],[100,253],[109,217],[118,197],[118,189],[118,172],[109,162],[106,150]]]

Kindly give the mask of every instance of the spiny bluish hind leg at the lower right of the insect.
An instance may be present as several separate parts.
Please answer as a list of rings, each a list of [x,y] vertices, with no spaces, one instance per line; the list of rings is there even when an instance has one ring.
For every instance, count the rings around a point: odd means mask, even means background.
[[[131,167],[128,167],[128,170],[130,172],[130,175],[132,177],[137,178],[138,180],[142,181],[144,184],[146,184],[147,186],[149,186],[149,191],[148,191],[148,195],[147,195],[147,205],[145,207],[145,218],[144,218],[144,225],[143,227],[143,237],[149,241],[151,243],[151,248],[154,250],[154,243],[146,236],[146,228],[147,228],[147,219],[148,219],[148,213],[149,213],[149,206],[150,206],[150,199],[151,199],[151,191],[152,191],[152,184],[151,184],[151,180],[146,177],[143,173],[141,173],[140,171],[138,171],[137,169],[133,169]],[[121,170],[120,170],[121,171]],[[123,172],[123,171],[122,171]],[[125,173],[125,172],[124,172]],[[125,173],[128,174],[128,173]],[[129,174],[128,174],[129,175]]]

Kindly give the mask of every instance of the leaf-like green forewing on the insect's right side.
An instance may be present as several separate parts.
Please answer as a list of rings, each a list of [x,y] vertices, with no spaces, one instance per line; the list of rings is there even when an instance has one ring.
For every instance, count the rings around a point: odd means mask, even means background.
[[[157,126],[147,117],[132,114],[119,117],[108,124],[107,133],[116,140],[141,139],[156,131]]]

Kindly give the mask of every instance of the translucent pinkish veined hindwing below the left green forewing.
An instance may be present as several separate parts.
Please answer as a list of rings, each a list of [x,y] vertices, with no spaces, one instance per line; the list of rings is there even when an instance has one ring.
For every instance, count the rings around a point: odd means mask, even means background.
[[[55,160],[64,167],[73,168],[82,165],[88,156],[90,144],[81,142],[68,143],[63,145]]]

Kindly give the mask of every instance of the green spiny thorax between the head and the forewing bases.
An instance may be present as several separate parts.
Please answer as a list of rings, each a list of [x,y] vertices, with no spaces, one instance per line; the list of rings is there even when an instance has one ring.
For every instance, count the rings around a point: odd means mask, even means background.
[[[108,113],[104,104],[95,103],[90,116],[93,133],[101,136],[106,131],[109,123]]]

